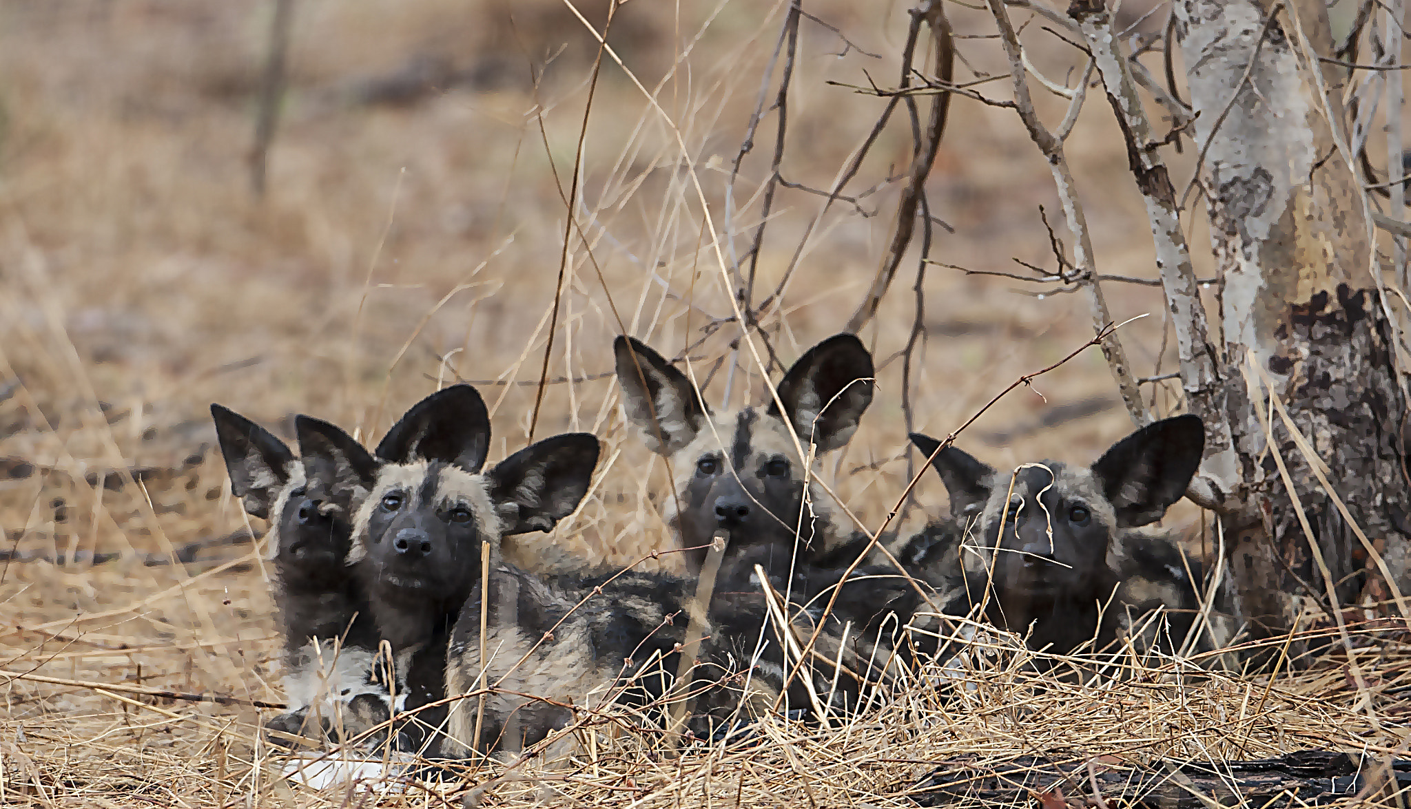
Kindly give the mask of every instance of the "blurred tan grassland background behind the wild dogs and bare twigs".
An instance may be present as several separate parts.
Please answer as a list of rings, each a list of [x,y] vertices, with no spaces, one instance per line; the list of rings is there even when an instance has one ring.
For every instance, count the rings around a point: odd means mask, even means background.
[[[309,413],[371,443],[439,385],[473,381],[501,458],[535,420],[560,266],[552,383],[533,434],[590,430],[607,451],[573,524],[525,540],[546,564],[583,554],[626,564],[670,544],[656,512],[662,464],[618,413],[615,334],[689,354],[714,406],[763,400],[729,317],[775,159],[787,3],[625,3],[607,35],[622,65],[605,58],[597,80],[590,27],[608,17],[601,0],[577,3],[581,18],[557,0],[292,0],[286,28],[278,6],[0,0],[0,526],[16,557],[0,562],[0,626],[14,627],[0,629],[0,651],[10,660],[79,679],[278,698],[265,572],[240,544],[264,526],[229,493],[209,404],[284,437],[295,413]],[[789,185],[773,196],[749,299],[787,276],[762,319],[785,365],[842,328],[886,257],[912,161],[904,110],[848,200],[825,209],[824,196],[888,103],[855,87],[897,85],[909,8],[804,4],[779,161]],[[1156,37],[1165,10],[1143,17],[1151,10],[1123,3],[1119,25]],[[978,89],[1007,97],[993,23],[961,4],[947,11],[957,82],[989,79]],[[278,30],[285,89],[261,194],[255,130]],[[930,48],[923,34],[926,70]],[[1030,48],[1046,76],[1070,85],[1079,56],[1048,35]],[[1143,61],[1161,73],[1160,54]],[[1067,106],[1048,93],[1036,101],[1051,125]],[[580,135],[580,230],[570,231]],[[1194,165],[1185,145],[1167,149],[1178,189]],[[1154,279],[1141,199],[1101,94],[1068,155],[1098,269]],[[1015,259],[1054,269],[1040,209],[1071,247],[1047,163],[1013,110],[954,97],[927,196],[937,264],[920,264],[917,237],[861,333],[878,396],[851,445],[824,459],[824,479],[869,527],[907,481],[900,352],[917,290],[910,409],[914,427],[937,436],[1092,337],[1081,295],[955,269],[1029,273]],[[1204,211],[1185,226],[1208,278]],[[1106,293],[1115,320],[1147,314],[1120,331],[1136,375],[1173,371],[1160,289]],[[1143,386],[1161,413],[1178,406],[1170,385]],[[995,465],[1088,462],[1130,428],[1089,350],[1000,400],[958,444]],[[917,498],[907,526],[944,509],[933,475]],[[190,543],[198,564],[144,564]],[[93,565],[86,554],[120,558]],[[47,691],[6,722],[87,706],[80,696]],[[109,722],[113,705],[85,716]]]

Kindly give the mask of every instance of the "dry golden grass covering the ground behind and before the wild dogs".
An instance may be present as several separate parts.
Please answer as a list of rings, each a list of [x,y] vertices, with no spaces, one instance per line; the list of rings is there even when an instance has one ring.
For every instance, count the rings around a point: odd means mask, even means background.
[[[0,526],[6,544],[28,554],[127,554],[97,567],[4,565],[0,668],[279,699],[267,578],[248,545],[175,568],[143,567],[131,554],[169,554],[247,527],[213,451],[213,400],[285,436],[288,416],[305,412],[377,437],[439,381],[495,381],[480,385],[497,430],[494,455],[523,445],[593,48],[553,0],[515,3],[512,28],[505,7],[299,3],[291,97],[270,196],[258,203],[246,155],[264,4],[0,1]],[[861,83],[864,70],[879,82],[895,75],[906,6],[862,11],[818,0],[809,10],[883,55],[852,49],[838,58],[837,35],[803,27],[783,172],[827,187],[880,103],[825,82]],[[725,220],[725,180],[780,4],[693,3],[677,17],[674,4],[631,3],[624,14],[615,44],[649,89],[677,66],[653,90],[655,103],[622,70],[607,69],[593,103],[583,171],[591,216],[581,220],[591,257],[571,241],[549,364],[550,376],[586,381],[549,386],[536,436],[591,430],[605,441],[605,462],[571,524],[526,538],[546,565],[584,555],[625,562],[669,547],[655,505],[666,476],[618,416],[608,345],[621,316],[626,330],[676,354],[729,310],[701,202],[715,237],[745,249],[769,166],[769,149],[756,145],[735,187],[735,217]],[[961,32],[988,32],[983,17],[962,7],[954,20]],[[571,47],[559,52],[562,42]],[[962,52],[978,69],[1003,69],[985,39],[962,41]],[[556,54],[538,87],[526,54],[535,63]],[[478,78],[408,106],[343,100],[361,79],[395,72],[415,55]],[[1072,63],[1071,52],[1051,45],[1037,47],[1034,59],[1050,76]],[[759,142],[772,140],[772,125]],[[885,179],[909,149],[906,130],[893,124],[854,187]],[[1084,113],[1070,159],[1086,183],[1098,266],[1154,278],[1140,197],[1103,104]],[[1188,171],[1177,168],[1178,176]],[[1012,269],[1012,257],[1051,262],[1036,210],[1053,209],[1051,183],[1007,110],[955,101],[930,192],[934,213],[955,227],[941,237],[938,261],[986,271]],[[896,196],[896,186],[869,196],[871,217],[838,206],[809,237],[785,309],[768,323],[786,361],[856,306],[885,249]],[[761,252],[761,289],[782,276],[820,204],[804,192],[780,192]],[[1194,242],[1204,244],[1202,223],[1194,228]],[[729,255],[728,244],[722,251]],[[879,395],[852,444],[825,458],[823,471],[873,527],[907,479],[896,352],[910,331],[910,283],[899,278],[862,334],[882,361]],[[917,428],[952,430],[1019,375],[1091,337],[1077,296],[1037,300],[1012,286],[928,271]],[[1123,330],[1139,373],[1150,373],[1161,345],[1157,293],[1116,288],[1109,299],[1119,320],[1154,314]],[[713,403],[724,403],[727,389],[735,402],[762,393],[748,352],[725,382],[738,335],[725,324],[691,352],[703,378],[724,359],[707,389]],[[1019,390],[1003,399],[961,445],[996,465],[1036,455],[1088,459],[1127,431],[1096,352],[1043,378],[1037,390],[1043,396]],[[1053,407],[1092,397],[1108,406],[1038,428]],[[1161,409],[1173,403],[1168,393],[1157,396]],[[931,478],[919,496],[926,510],[943,507]],[[913,512],[907,526],[923,519]],[[1349,691],[1336,668],[1273,685],[1137,678],[1050,682],[1040,693],[1016,665],[976,677],[976,691],[948,706],[910,693],[827,733],[772,720],[748,750],[669,760],[631,737],[602,741],[598,758],[559,786],[593,805],[895,806],[906,805],[904,785],[930,761],[959,753],[1254,757],[1395,747],[1401,733],[1384,713],[1371,719],[1359,705],[1366,695]],[[1398,677],[1377,688],[1397,688]],[[279,781],[278,761],[255,741],[253,708],[23,679],[8,681],[4,696],[0,805],[346,799]],[[514,789],[504,786],[497,799],[511,801]],[[381,801],[440,805],[422,792]]]

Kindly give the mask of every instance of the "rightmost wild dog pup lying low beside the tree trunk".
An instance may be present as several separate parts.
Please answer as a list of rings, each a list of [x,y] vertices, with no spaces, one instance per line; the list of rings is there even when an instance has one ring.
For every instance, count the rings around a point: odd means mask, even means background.
[[[1134,630],[1143,633],[1133,638],[1139,643],[1167,651],[1182,646],[1201,602],[1199,568],[1173,537],[1140,529],[1185,495],[1205,444],[1198,417],[1149,424],[1091,468],[1024,464],[1013,481],[955,447],[937,454],[934,438],[912,434],[912,441],[935,454],[931,464],[950,490],[952,519],[976,537],[967,537],[958,571],[933,578],[964,575],[968,600],[976,603],[992,586],[988,617],[1029,633],[1036,650],[1068,654],[1089,641],[1105,650]],[[1156,607],[1168,610],[1168,629],[1132,623]],[[1202,630],[1201,648],[1208,638],[1222,646],[1223,634]]]

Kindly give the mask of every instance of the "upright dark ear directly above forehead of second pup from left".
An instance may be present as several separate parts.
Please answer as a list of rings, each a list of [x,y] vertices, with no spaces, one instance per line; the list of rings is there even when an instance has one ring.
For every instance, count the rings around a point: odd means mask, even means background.
[[[452,385],[422,399],[377,445],[394,464],[443,461],[476,474],[490,452],[490,412],[470,385]]]

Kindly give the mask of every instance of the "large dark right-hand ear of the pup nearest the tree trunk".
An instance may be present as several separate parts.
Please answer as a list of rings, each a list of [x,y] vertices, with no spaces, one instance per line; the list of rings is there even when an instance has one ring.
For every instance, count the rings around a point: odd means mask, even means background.
[[[1092,465],[1092,474],[1112,502],[1118,524],[1144,526],[1185,496],[1204,451],[1205,424],[1198,416],[1163,419],[1113,444]]]

